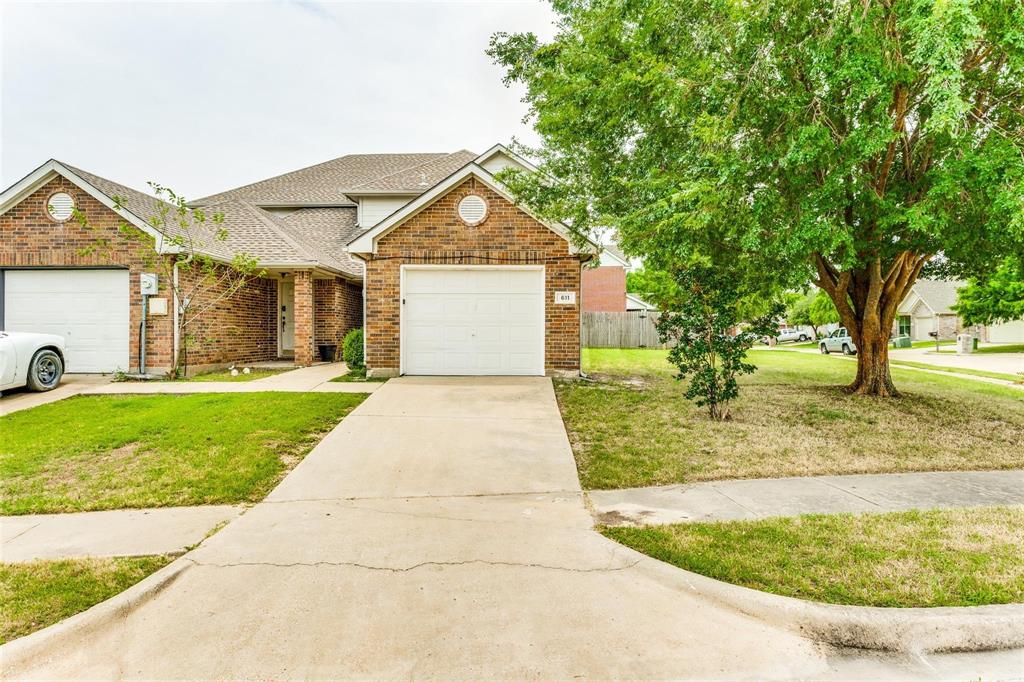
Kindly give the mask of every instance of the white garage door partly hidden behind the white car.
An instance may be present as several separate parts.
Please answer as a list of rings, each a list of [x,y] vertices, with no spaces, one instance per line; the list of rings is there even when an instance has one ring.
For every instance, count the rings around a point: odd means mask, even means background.
[[[7,270],[4,328],[65,337],[68,372],[128,370],[128,270]]]

